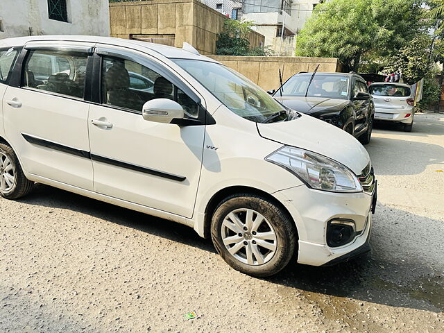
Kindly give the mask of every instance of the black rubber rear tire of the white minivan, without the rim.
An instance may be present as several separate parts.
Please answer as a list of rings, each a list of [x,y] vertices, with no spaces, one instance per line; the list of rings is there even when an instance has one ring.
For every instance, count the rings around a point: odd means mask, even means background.
[[[22,167],[20,167],[19,160],[17,159],[17,155],[15,155],[10,146],[0,143],[0,153],[0,157],[2,157],[2,155],[8,157],[10,164],[12,165],[12,173],[15,180],[14,185],[12,185],[12,187],[10,187],[10,189],[8,189],[7,191],[3,191],[0,187],[0,196],[3,196],[3,198],[10,200],[26,196],[26,194],[31,192],[31,190],[33,189],[34,182],[31,182],[25,177]]]

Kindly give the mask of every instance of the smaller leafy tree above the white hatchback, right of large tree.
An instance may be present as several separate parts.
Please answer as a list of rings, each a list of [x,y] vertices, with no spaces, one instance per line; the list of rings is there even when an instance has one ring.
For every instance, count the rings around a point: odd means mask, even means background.
[[[432,39],[428,35],[419,35],[409,44],[402,47],[398,54],[391,59],[391,65],[386,67],[386,72],[400,71],[405,83],[413,85],[422,78],[432,76],[435,66],[431,65],[430,45]]]

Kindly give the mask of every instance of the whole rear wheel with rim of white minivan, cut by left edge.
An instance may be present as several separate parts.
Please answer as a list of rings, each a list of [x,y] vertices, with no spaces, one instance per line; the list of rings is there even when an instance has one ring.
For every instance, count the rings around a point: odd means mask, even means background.
[[[0,196],[18,199],[26,196],[34,182],[26,179],[19,160],[7,144],[0,144]]]

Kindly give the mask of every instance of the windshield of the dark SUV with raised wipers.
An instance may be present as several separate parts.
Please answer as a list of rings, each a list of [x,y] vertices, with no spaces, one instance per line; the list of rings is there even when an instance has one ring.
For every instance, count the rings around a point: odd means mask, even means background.
[[[311,75],[295,75],[282,86],[282,96],[305,96]],[[348,99],[348,77],[315,74],[308,89],[307,97],[329,97]],[[280,96],[280,92],[275,93]]]

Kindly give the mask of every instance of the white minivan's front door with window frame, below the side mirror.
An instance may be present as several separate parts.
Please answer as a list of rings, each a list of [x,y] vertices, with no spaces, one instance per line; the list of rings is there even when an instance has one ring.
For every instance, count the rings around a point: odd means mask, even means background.
[[[205,112],[196,102],[196,93],[180,81],[182,89],[174,85],[177,78],[144,53],[98,46],[96,58],[100,58],[94,62],[94,71],[99,75],[97,91],[101,96],[89,111],[94,189],[190,218],[202,165],[205,125],[146,121],[142,106],[151,99],[172,99],[182,105],[189,119],[196,120]],[[130,73],[152,81],[152,92],[132,87]]]

